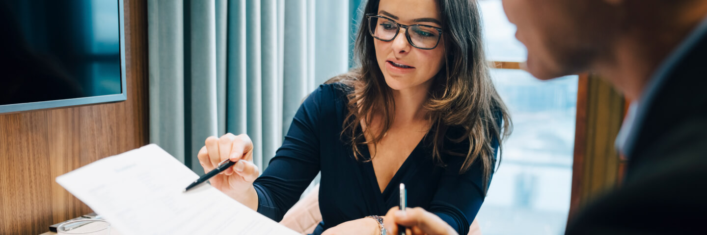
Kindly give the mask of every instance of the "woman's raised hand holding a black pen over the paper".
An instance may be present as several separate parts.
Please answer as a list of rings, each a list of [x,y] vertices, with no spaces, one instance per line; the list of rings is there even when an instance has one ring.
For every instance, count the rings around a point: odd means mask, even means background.
[[[252,163],[253,143],[248,135],[227,133],[221,138],[210,136],[206,138],[206,145],[201,147],[197,157],[201,167],[204,167],[204,172],[213,170],[225,159],[238,161],[233,167],[211,177],[209,181],[214,188],[257,210],[258,195],[253,188],[253,181],[257,179],[260,171]]]

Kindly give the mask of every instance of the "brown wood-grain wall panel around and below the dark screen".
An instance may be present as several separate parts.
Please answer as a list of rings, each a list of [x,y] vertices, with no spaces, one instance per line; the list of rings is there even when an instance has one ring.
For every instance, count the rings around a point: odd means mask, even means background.
[[[0,115],[0,234],[42,234],[90,212],[54,179],[148,143],[146,9],[124,0],[126,101]]]

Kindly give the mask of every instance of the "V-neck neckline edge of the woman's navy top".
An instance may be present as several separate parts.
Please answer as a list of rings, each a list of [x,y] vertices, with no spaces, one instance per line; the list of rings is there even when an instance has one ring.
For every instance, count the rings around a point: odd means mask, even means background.
[[[358,127],[359,131],[361,131],[361,126]],[[397,187],[393,187],[391,185],[399,185],[402,181],[402,173],[401,172],[406,172],[407,169],[409,168],[409,165],[411,164],[412,160],[416,155],[419,155],[419,148],[423,143],[425,142],[425,138],[427,138],[427,135],[430,133],[431,129],[425,133],[425,135],[422,136],[420,141],[415,145],[415,147],[412,149],[409,155],[405,158],[405,160],[402,162],[400,167],[395,171],[395,174],[393,174],[393,177],[390,179],[388,184],[383,188],[383,191],[380,191],[380,184],[378,183],[378,176],[375,174],[375,168],[373,168],[373,160],[370,157],[370,151],[368,150],[368,145],[363,145],[363,149],[361,149],[361,154],[368,159],[368,162],[364,164],[364,167],[368,171],[368,174],[371,175],[371,177],[368,177],[372,183],[371,186],[373,186],[374,191],[377,193],[377,195],[380,195],[380,199],[382,200],[381,203],[385,202],[385,195],[390,195],[390,191],[397,189]]]

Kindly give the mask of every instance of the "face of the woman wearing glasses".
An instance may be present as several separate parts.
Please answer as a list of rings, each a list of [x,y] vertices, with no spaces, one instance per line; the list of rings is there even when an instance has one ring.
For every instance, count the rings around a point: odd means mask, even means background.
[[[430,25],[442,28],[440,13],[434,0],[381,0],[378,16],[385,16],[403,25]],[[375,58],[385,83],[393,90],[428,87],[444,65],[444,42],[435,49],[413,47],[405,37],[406,28],[390,42],[374,39]],[[413,32],[410,32],[413,35]]]

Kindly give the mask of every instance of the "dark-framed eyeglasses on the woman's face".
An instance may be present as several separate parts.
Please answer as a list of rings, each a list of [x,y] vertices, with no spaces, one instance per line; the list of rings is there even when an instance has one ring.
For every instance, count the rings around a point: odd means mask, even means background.
[[[366,14],[368,32],[383,42],[390,42],[397,37],[400,28],[405,28],[405,37],[413,47],[419,49],[435,49],[442,38],[442,28],[430,25],[403,25],[385,16]]]

